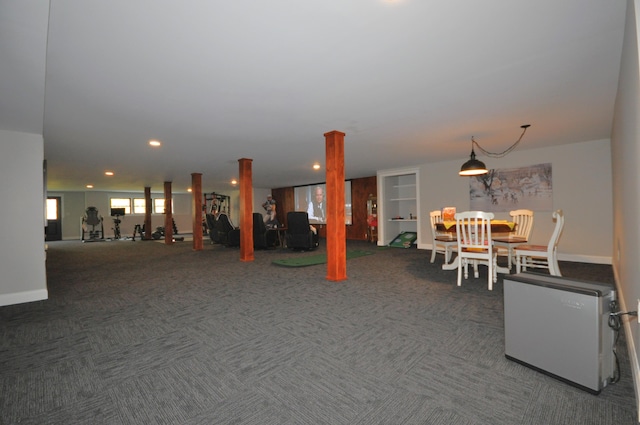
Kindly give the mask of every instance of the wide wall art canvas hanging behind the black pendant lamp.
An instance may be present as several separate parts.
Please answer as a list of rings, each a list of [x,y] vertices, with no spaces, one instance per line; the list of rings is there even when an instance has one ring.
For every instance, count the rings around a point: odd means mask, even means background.
[[[505,212],[553,210],[551,164],[489,170],[469,178],[471,210]]]

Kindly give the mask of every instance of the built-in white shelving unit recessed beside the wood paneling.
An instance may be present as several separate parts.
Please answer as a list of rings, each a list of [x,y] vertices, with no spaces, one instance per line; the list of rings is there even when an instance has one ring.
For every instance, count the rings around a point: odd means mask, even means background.
[[[378,245],[401,232],[420,232],[418,182],[417,168],[378,171]]]

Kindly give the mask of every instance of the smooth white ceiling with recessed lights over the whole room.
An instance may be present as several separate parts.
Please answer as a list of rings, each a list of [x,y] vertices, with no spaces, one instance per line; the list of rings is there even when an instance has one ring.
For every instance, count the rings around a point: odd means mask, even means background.
[[[607,139],[626,3],[0,0],[0,128],[44,135],[50,190],[222,190],[239,158],[255,187],[322,182],[331,130],[347,178],[522,124],[522,150]]]

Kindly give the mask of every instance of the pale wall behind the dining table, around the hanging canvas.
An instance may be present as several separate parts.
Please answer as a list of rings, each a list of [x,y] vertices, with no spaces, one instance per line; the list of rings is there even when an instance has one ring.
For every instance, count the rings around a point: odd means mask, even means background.
[[[535,131],[535,128],[530,130]],[[562,209],[565,227],[558,246],[561,260],[611,263],[612,195],[609,140],[573,143],[550,148],[519,150],[502,159],[479,157],[490,168],[515,168],[551,163],[553,209]],[[457,161],[424,164],[420,167],[421,240],[419,248],[431,248],[429,211],[453,206],[470,209],[469,178],[458,176]],[[585,164],[587,166],[582,166]],[[532,243],[546,244],[553,232],[552,211],[535,211]],[[508,213],[496,213],[508,218]]]

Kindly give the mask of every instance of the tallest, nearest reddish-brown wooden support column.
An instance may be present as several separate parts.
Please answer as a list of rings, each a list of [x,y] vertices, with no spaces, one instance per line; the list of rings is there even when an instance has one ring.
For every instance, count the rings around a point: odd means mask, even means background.
[[[327,280],[347,278],[347,239],[344,218],[344,136],[325,133],[327,174]]]

